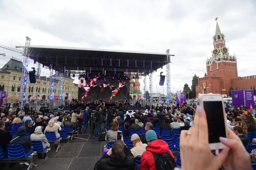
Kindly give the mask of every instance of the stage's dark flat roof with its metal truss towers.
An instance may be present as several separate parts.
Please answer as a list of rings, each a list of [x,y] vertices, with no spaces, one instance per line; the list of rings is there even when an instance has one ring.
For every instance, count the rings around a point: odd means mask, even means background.
[[[29,45],[29,41],[25,46],[16,46],[16,48],[24,48],[23,64],[25,65],[23,73],[23,82],[26,82],[26,62],[28,58],[34,62],[41,63],[43,67],[50,69],[51,83],[50,90],[54,86],[54,76],[57,74],[65,74],[73,77],[84,77],[85,80],[93,81],[97,77],[112,80],[127,80],[132,76],[149,76],[149,95],[152,100],[153,85],[152,73],[164,65],[167,65],[167,92],[170,96],[170,56],[169,50],[166,53],[140,52],[127,50],[105,50],[105,49],[89,49],[76,47],[59,47],[44,45]],[[55,75],[54,75],[55,71]],[[118,81],[118,82],[119,82]],[[147,82],[144,81],[144,93],[146,91]],[[62,87],[60,87],[61,89]],[[24,88],[23,88],[24,89]],[[60,90],[59,93],[62,90]],[[26,91],[23,90],[22,96]],[[58,94],[61,98],[61,95]],[[52,97],[54,92],[52,92]],[[49,100],[52,101],[51,95]]]

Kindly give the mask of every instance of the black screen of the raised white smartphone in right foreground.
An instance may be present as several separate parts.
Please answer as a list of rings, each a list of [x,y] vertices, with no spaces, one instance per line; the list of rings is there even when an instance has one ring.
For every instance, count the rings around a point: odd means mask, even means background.
[[[220,142],[219,137],[226,138],[222,101],[203,101],[207,117],[209,143]]]

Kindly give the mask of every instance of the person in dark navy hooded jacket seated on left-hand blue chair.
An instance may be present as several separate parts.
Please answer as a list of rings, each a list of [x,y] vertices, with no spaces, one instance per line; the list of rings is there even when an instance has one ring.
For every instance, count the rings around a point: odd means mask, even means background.
[[[16,135],[13,136],[12,140],[10,141],[11,145],[21,144],[26,153],[31,151],[32,143],[30,137],[26,136],[26,127],[20,126],[17,129]]]

